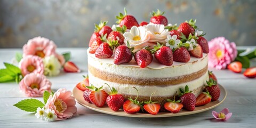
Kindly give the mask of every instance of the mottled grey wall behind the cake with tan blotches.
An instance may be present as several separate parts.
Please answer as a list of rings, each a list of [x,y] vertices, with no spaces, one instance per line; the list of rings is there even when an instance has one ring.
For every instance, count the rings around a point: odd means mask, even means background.
[[[206,39],[225,36],[237,45],[256,45],[256,1],[29,1],[0,0],[0,48],[22,47],[29,38],[43,36],[58,47],[87,47],[94,23],[115,23],[127,12],[138,22],[149,21],[149,13],[165,11],[170,23],[191,18],[206,32]]]

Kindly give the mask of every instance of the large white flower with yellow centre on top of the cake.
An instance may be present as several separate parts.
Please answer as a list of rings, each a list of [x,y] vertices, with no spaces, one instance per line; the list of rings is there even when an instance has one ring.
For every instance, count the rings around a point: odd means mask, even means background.
[[[129,41],[130,46],[134,47],[134,50],[142,49],[150,44],[148,43],[150,37],[145,27],[133,26],[129,32],[124,33],[124,37],[124,42],[127,43]]]

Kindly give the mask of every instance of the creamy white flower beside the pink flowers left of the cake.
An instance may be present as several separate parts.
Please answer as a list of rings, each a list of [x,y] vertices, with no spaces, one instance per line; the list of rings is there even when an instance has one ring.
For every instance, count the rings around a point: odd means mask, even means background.
[[[60,73],[61,65],[54,55],[50,57],[45,57],[43,59],[44,62],[44,75],[56,76]]]

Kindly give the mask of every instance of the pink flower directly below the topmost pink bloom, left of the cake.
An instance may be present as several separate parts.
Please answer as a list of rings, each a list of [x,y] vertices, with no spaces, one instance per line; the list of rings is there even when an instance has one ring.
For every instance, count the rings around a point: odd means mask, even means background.
[[[19,62],[19,68],[21,69],[22,76],[26,76],[30,73],[44,74],[43,59],[36,55],[27,55]]]

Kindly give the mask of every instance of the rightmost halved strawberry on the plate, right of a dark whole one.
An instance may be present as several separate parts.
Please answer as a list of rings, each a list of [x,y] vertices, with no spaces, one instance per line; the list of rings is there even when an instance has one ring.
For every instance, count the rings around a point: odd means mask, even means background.
[[[196,106],[206,105],[207,103],[210,103],[211,100],[212,100],[212,97],[209,94],[209,92],[203,92],[199,94],[198,97],[196,98]]]

